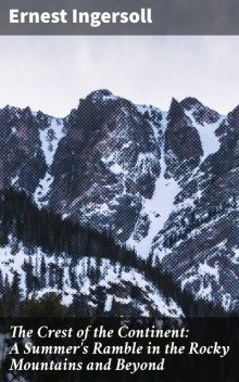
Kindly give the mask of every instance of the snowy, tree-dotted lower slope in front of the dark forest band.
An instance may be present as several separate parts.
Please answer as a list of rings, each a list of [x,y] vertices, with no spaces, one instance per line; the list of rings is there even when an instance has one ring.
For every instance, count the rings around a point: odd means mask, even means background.
[[[47,272],[46,279],[49,279],[51,267],[60,267],[63,269],[63,278],[61,286],[54,281],[47,281],[45,288],[35,290],[34,292],[27,291],[26,286],[26,272],[24,267],[26,264],[32,264],[33,272],[37,277],[37,272],[40,271],[42,259],[46,263]],[[30,263],[29,263],[30,262]],[[68,306],[72,304],[74,296],[84,295],[89,300],[91,306],[97,306],[99,303],[96,298],[95,292],[98,288],[103,288],[106,291],[104,310],[110,311],[112,309],[113,302],[121,303],[123,305],[135,305],[138,302],[130,294],[125,295],[121,292],[121,296],[115,294],[116,285],[120,290],[124,290],[124,285],[128,284],[127,288],[136,286],[140,290],[140,308],[144,316],[149,317],[150,311],[148,307],[155,309],[159,314],[167,317],[183,317],[183,310],[174,302],[173,298],[165,298],[163,294],[154,288],[154,285],[148,281],[141,273],[133,268],[121,267],[118,263],[114,264],[109,259],[101,258],[100,264],[97,263],[95,257],[81,257],[76,263],[72,264],[72,259],[65,254],[48,256],[40,249],[37,249],[30,256],[27,251],[21,246],[15,253],[12,252],[10,246],[0,249],[0,269],[2,279],[5,278],[9,282],[13,281],[14,272],[20,275],[20,288],[23,296],[41,298],[43,295],[49,293],[55,293],[61,296],[62,304]],[[70,277],[71,272],[74,271],[76,276],[75,285],[73,286]]]

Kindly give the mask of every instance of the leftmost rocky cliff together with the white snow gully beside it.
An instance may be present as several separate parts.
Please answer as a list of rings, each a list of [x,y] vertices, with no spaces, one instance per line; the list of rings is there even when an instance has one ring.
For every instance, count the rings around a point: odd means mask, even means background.
[[[0,110],[0,189],[14,186],[30,195],[36,192],[36,201],[40,200],[63,136],[63,120],[33,113],[29,107],[5,106]]]

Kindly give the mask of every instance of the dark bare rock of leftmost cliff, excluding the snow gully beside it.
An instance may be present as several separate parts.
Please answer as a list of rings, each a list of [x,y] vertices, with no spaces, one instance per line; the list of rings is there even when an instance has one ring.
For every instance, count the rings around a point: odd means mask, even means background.
[[[40,115],[34,116],[28,107],[7,106],[0,111],[0,187],[17,183],[33,193],[47,168],[40,145]]]

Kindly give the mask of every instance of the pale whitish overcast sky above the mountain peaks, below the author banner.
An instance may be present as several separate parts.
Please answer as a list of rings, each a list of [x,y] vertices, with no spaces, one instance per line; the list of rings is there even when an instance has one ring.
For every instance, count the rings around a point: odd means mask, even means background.
[[[162,110],[172,97],[239,104],[239,37],[7,36],[0,52],[0,107],[65,116],[100,88]]]

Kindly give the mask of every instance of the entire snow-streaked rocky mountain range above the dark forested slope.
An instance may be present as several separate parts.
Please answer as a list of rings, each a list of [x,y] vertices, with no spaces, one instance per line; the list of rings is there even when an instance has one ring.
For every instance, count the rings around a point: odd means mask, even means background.
[[[99,90],[64,119],[0,111],[0,187],[113,232],[196,296],[238,309],[239,110],[168,113]]]

